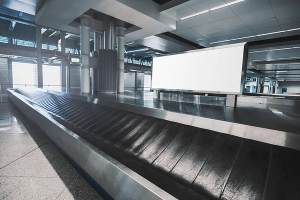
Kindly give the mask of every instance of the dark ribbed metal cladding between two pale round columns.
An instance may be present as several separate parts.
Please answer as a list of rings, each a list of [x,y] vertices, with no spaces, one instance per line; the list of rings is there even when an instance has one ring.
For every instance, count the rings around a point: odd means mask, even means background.
[[[117,51],[99,49],[98,92],[116,92]]]

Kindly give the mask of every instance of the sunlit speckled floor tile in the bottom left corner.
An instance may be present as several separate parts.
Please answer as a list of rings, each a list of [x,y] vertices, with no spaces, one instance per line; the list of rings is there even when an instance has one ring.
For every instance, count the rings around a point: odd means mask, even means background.
[[[0,176],[0,199],[24,183],[29,177]]]

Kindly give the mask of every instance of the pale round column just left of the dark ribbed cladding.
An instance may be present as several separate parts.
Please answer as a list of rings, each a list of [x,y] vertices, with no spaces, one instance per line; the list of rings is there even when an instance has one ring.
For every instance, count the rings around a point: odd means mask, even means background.
[[[81,92],[82,93],[89,93],[89,50],[90,50],[90,43],[89,43],[89,33],[90,33],[90,26],[89,24],[89,15],[82,14],[80,16],[80,52],[81,52],[81,59],[80,59],[80,81],[81,81]]]

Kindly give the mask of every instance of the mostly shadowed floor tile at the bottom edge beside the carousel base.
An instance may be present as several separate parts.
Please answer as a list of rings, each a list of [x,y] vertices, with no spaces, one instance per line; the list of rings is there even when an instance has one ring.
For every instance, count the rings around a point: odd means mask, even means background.
[[[74,178],[58,196],[57,200],[62,199],[102,199],[99,194],[81,178]]]

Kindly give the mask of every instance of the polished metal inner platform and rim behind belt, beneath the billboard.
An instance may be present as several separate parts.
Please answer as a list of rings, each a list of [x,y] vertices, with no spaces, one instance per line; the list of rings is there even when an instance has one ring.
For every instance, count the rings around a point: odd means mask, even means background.
[[[58,91],[44,91],[243,138],[300,149],[300,134],[298,133],[300,124],[297,122],[300,120],[299,109],[294,110],[279,105],[256,105],[255,103],[250,105],[242,102],[237,102],[238,107],[233,108],[153,100],[151,96],[146,96],[149,100],[126,95],[97,95],[98,98],[93,98]],[[206,96],[202,96],[204,97]],[[217,99],[214,96],[209,96],[209,98]]]

